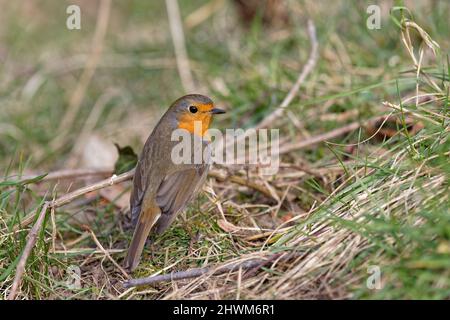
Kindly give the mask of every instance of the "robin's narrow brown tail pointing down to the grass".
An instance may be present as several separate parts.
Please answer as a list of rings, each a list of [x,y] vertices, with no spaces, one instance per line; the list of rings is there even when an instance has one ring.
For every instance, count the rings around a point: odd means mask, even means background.
[[[139,264],[139,261],[141,260],[142,250],[144,249],[148,234],[150,233],[155,220],[140,218],[138,223],[136,224],[133,239],[131,240],[128,253],[124,261],[124,267],[128,271],[133,271]]]

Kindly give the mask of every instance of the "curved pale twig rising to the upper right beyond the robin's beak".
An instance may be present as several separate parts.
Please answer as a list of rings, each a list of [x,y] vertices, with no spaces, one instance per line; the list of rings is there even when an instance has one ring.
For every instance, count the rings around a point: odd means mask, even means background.
[[[303,69],[301,73],[299,74],[297,81],[295,82],[294,86],[291,88],[287,96],[284,98],[284,100],[281,102],[280,106],[272,112],[270,115],[265,117],[255,128],[261,129],[267,127],[269,124],[271,124],[274,120],[279,118],[284,110],[291,104],[292,100],[295,98],[295,96],[298,93],[298,90],[300,89],[300,85],[305,81],[306,77],[311,73],[311,71],[314,69],[317,59],[318,59],[318,42],[317,42],[317,35],[316,35],[316,27],[314,26],[314,22],[312,20],[308,20],[308,34],[309,39],[311,42],[311,51],[309,54],[308,61],[303,66]]]

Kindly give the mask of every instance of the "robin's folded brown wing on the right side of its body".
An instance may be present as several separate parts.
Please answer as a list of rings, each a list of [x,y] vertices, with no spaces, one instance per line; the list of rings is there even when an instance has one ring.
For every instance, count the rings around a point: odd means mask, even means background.
[[[161,216],[155,224],[155,232],[161,234],[172,223],[177,214],[200,191],[205,182],[207,164],[190,167],[166,176],[156,193],[156,203]]]

